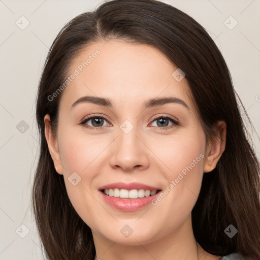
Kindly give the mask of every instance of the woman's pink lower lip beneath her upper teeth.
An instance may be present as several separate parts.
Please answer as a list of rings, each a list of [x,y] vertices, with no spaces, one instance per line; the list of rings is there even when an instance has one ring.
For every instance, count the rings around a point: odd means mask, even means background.
[[[121,199],[116,197],[110,197],[100,191],[104,200],[112,207],[122,211],[135,211],[151,204],[151,201],[156,199],[161,191],[154,194],[153,196],[138,198],[138,199]]]

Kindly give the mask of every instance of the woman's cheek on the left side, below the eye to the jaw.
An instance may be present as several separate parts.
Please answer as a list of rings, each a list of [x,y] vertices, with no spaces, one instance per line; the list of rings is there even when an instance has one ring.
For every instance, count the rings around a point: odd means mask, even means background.
[[[101,142],[98,136],[75,134],[73,129],[68,127],[66,131],[59,133],[59,144],[68,197],[78,215],[92,226],[93,217],[89,214],[89,209],[95,209],[99,204],[94,199],[91,183],[100,172],[102,151],[109,143]]]

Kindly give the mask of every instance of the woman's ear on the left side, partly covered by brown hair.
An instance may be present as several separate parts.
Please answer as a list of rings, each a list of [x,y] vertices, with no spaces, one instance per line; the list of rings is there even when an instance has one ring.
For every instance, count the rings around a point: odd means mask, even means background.
[[[51,133],[51,120],[48,114],[45,115],[44,117],[44,124],[45,124],[44,134],[45,134],[46,141],[48,143],[48,148],[49,148],[51,158],[53,160],[53,164],[55,166],[56,172],[62,175],[63,168],[61,165],[58,142],[56,136],[54,136]]]

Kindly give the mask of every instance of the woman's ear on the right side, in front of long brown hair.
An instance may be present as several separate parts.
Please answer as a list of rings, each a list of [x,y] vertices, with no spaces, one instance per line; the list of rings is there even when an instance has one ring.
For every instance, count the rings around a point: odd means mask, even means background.
[[[218,121],[217,123],[217,137],[214,142],[208,145],[207,156],[204,164],[204,172],[211,172],[217,165],[222,153],[225,150],[226,143],[226,123],[225,121]]]

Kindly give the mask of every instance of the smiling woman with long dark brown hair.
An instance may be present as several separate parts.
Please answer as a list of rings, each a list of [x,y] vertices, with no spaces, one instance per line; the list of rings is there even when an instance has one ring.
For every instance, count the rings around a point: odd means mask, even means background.
[[[260,259],[259,163],[226,63],[187,14],[114,0],[72,19],[37,122],[48,259]]]

